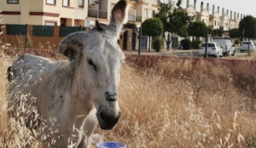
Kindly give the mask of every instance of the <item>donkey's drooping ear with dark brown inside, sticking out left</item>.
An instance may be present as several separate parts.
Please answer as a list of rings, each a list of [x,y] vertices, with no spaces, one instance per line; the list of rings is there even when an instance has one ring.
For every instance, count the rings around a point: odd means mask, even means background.
[[[74,32],[68,35],[59,44],[59,52],[67,56],[69,60],[75,59],[75,57],[84,47],[83,38],[83,32]]]

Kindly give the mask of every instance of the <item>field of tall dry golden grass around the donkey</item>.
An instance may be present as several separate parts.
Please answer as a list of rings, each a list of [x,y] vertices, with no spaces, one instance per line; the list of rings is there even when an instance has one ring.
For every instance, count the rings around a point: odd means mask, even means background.
[[[38,140],[25,128],[7,128],[5,74],[15,58],[0,59],[0,145],[22,147],[29,142],[37,147]],[[113,130],[96,128],[95,133],[129,148],[253,147],[254,63],[126,55],[119,85],[121,120]]]

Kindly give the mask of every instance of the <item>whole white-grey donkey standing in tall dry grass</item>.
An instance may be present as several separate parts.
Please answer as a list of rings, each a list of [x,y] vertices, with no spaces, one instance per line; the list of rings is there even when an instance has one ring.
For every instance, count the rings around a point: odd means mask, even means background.
[[[71,139],[73,147],[88,147],[97,123],[108,130],[119,121],[118,86],[125,55],[117,39],[126,11],[127,2],[120,0],[108,26],[96,21],[92,30],[64,38],[59,50],[69,61],[52,62],[24,54],[9,66],[10,99],[15,102],[16,92],[36,98],[32,105],[41,121],[37,129],[42,130],[41,135],[54,133],[44,139],[50,147],[67,147]]]

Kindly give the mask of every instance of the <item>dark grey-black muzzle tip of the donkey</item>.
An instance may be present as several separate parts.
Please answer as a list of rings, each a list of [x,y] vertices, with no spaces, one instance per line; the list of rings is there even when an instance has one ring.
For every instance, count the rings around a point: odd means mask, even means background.
[[[99,121],[100,127],[103,130],[110,130],[110,129],[113,129],[113,127],[116,125],[117,122],[119,122],[120,117],[121,117],[120,111],[117,114],[117,116],[108,115],[108,113],[105,113],[105,112],[100,112],[98,121]]]

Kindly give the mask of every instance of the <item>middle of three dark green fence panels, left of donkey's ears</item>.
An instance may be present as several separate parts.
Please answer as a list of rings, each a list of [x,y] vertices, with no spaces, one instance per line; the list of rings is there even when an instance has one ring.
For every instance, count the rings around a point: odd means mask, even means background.
[[[54,26],[32,26],[32,36],[53,37]]]

